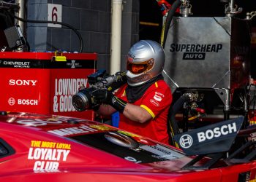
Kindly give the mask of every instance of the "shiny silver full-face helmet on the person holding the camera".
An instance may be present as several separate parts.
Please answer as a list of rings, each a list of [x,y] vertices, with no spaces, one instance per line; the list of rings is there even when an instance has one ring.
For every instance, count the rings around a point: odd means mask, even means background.
[[[134,44],[127,55],[127,82],[139,86],[161,74],[165,52],[156,41],[142,40]]]

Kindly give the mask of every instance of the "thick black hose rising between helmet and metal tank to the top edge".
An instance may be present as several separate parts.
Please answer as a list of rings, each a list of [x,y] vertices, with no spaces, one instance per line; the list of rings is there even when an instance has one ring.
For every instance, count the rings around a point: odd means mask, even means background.
[[[170,23],[173,20],[173,15],[175,14],[176,10],[178,9],[178,7],[181,6],[181,3],[182,3],[181,0],[174,1],[172,6],[170,7],[169,12],[167,13],[167,17],[165,19],[165,23],[162,29],[162,40],[161,40],[162,47],[165,47],[165,41],[166,41],[167,33],[169,31]]]

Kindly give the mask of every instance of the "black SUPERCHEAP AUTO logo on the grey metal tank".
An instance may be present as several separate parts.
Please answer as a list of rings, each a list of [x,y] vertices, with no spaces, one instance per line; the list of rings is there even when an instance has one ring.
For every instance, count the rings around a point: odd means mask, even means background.
[[[205,60],[206,52],[219,52],[222,44],[170,44],[170,52],[184,52],[183,60]]]

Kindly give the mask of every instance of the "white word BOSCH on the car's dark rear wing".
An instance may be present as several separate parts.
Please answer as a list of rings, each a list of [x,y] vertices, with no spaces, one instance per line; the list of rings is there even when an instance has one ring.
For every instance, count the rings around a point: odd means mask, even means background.
[[[198,142],[203,142],[233,132],[237,132],[236,122],[233,122],[232,124],[223,125],[222,127],[215,127],[213,130],[206,130],[206,132],[198,132],[197,138]]]

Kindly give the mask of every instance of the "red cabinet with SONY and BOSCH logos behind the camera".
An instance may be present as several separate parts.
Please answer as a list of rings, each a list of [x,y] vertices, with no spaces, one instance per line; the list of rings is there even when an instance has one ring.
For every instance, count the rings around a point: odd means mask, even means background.
[[[96,53],[0,52],[0,111],[94,119],[93,111],[75,111],[72,95],[89,86],[96,61]]]

